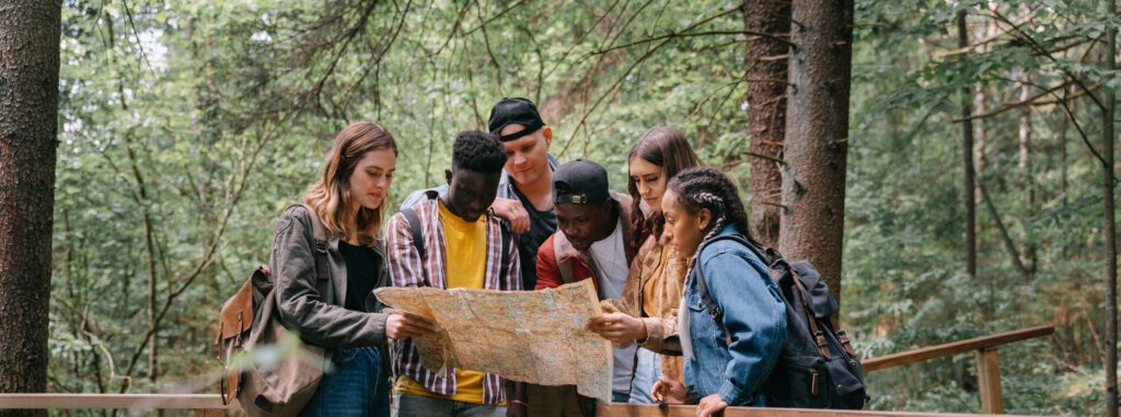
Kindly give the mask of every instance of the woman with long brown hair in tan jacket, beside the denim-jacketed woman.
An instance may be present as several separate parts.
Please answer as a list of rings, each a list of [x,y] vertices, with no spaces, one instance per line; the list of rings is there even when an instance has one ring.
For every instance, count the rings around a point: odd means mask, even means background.
[[[674,311],[682,297],[685,267],[660,239],[665,217],[661,196],[674,175],[701,165],[688,140],[668,126],[650,129],[627,158],[632,198],[631,241],[638,250],[631,262],[618,312],[594,318],[590,328],[619,344],[639,342],[630,402],[654,402],[650,387],[659,377],[682,380],[680,347],[676,343]]]

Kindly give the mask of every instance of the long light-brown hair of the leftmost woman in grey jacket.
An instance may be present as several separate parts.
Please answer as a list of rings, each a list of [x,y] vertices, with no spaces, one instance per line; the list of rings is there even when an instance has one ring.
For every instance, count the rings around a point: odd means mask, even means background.
[[[354,166],[365,154],[382,149],[392,150],[395,157],[398,154],[393,136],[378,123],[353,123],[335,137],[323,164],[323,177],[304,193],[304,204],[315,211],[323,229],[340,235],[356,234],[362,244],[372,245],[377,242],[386,216],[388,194],[376,210],[359,207],[358,230],[343,230],[343,216],[351,204],[358,204],[350,189],[350,176],[354,173]]]

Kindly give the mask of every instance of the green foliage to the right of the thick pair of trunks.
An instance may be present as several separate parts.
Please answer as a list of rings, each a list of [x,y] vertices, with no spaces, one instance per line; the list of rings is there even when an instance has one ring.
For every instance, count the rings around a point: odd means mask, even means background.
[[[1096,3],[993,4],[858,4],[850,136],[859,141],[849,161],[845,318],[865,356],[1054,324],[1054,339],[1001,349],[1006,410],[1101,415],[1100,163],[1054,105],[1078,87],[1044,92],[1072,75],[1087,86],[1117,82],[1101,68],[1100,45],[1087,53],[1090,40],[1110,22]],[[967,13],[971,43],[984,40],[964,54],[957,50],[958,10]],[[1009,21],[1027,24],[1018,33]],[[1021,83],[1023,74],[1030,83]],[[963,89],[966,100],[983,105],[976,114],[1022,101],[1023,85],[1029,98],[1040,95],[1032,100],[1039,103],[974,120],[983,155],[974,160],[979,184],[1030,276],[1013,267],[997,220],[978,194],[980,268],[971,278],[964,268],[957,120]],[[980,102],[979,89],[985,94]],[[1048,100],[1051,104],[1043,103]],[[1100,148],[1101,112],[1085,98],[1071,102]],[[1030,136],[1021,147],[1025,115]],[[975,413],[974,361],[960,355],[873,372],[868,376],[872,406]]]

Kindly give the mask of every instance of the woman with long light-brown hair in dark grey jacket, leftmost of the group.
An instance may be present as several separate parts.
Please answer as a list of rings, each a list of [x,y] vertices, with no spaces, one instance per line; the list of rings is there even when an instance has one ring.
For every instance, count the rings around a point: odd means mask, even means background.
[[[397,143],[385,128],[348,126],[335,137],[323,177],[277,221],[270,266],[280,319],[326,347],[335,363],[304,416],[389,416],[386,337],[432,331],[423,321],[381,312],[372,293],[388,285],[381,224],[396,165]]]

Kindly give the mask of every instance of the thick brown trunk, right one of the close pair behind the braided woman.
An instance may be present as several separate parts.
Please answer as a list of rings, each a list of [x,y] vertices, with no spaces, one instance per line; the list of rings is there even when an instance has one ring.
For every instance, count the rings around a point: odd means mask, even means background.
[[[853,1],[794,1],[779,250],[841,298]]]

